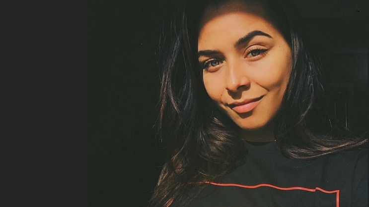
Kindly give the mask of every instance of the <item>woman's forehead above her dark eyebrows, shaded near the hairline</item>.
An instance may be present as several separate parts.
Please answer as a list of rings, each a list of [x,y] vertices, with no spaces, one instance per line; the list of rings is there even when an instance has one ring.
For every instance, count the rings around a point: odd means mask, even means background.
[[[231,47],[253,31],[262,31],[272,37],[280,36],[272,23],[260,14],[263,14],[260,6],[240,1],[208,7],[201,19],[198,50],[217,48],[223,44]]]

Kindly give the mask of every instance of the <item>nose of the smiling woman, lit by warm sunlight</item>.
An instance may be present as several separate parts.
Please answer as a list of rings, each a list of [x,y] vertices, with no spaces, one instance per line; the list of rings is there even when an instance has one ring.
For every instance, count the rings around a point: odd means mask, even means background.
[[[241,63],[232,62],[228,64],[225,87],[227,91],[233,93],[250,87],[250,80]]]

